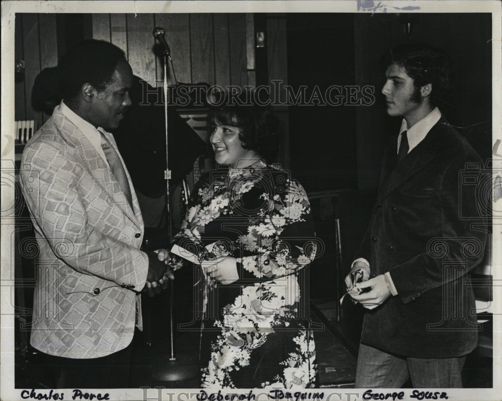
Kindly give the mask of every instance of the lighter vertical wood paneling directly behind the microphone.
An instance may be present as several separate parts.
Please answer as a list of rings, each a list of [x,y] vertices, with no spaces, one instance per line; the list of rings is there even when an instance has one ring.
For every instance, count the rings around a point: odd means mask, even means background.
[[[251,18],[249,18],[249,16]],[[154,27],[166,41],[179,82],[254,85],[254,26],[246,14],[92,14],[92,37],[120,47],[133,72],[153,86],[163,79],[162,60],[154,53]],[[249,46],[249,43],[252,45]],[[157,82],[159,84],[157,85]],[[168,71],[168,83],[174,84]]]

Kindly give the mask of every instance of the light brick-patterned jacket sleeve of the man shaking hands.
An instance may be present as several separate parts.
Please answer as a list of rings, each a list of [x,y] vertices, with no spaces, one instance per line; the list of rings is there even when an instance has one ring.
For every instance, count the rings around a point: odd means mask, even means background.
[[[148,256],[89,223],[90,206],[80,187],[81,180],[92,179],[85,169],[47,142],[27,148],[22,166],[20,179],[27,206],[56,257],[81,273],[141,290]],[[103,202],[102,208],[106,207]]]

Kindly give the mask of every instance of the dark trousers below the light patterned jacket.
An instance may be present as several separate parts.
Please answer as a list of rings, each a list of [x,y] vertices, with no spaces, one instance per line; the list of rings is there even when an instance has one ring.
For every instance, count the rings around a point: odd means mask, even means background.
[[[57,388],[129,388],[132,344],[100,358],[73,359],[46,355],[59,371]]]

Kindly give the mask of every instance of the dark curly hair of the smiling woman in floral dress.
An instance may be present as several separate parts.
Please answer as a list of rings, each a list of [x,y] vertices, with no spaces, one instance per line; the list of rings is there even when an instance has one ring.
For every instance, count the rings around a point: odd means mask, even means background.
[[[225,94],[222,105],[210,110],[207,124],[210,132],[216,123],[239,128],[242,148],[255,150],[267,163],[272,163],[279,149],[279,120],[269,106],[257,102],[255,95],[252,90],[243,91],[237,99]]]

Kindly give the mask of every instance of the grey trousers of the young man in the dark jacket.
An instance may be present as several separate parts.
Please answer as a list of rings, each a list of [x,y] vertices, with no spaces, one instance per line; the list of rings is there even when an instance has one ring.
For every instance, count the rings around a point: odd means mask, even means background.
[[[359,344],[355,388],[401,388],[411,377],[415,388],[462,388],[465,356],[411,358]]]

